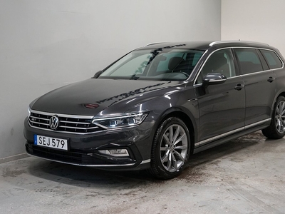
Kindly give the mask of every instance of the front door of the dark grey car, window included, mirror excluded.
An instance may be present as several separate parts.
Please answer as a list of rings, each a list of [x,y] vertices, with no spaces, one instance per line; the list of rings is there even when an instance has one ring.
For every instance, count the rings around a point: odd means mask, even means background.
[[[202,86],[207,73],[222,73],[227,81],[219,85]],[[231,49],[214,52],[207,59],[197,78],[199,103],[198,144],[202,146],[244,128],[245,91],[242,76],[239,76]]]

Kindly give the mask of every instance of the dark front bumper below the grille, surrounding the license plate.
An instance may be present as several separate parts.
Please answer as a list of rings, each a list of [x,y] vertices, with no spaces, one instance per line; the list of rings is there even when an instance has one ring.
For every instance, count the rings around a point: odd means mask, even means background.
[[[27,118],[24,122],[26,152],[31,156],[60,163],[83,165],[105,170],[141,170],[150,166],[151,123],[142,123],[134,128],[105,131],[86,135],[59,133],[32,128]],[[33,136],[41,135],[68,139],[68,151],[37,146]],[[127,149],[128,157],[115,157],[99,153],[105,149]]]

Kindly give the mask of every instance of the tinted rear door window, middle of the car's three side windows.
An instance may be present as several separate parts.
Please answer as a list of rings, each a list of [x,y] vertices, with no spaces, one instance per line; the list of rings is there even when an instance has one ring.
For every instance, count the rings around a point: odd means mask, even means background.
[[[256,49],[235,49],[242,74],[263,71]]]

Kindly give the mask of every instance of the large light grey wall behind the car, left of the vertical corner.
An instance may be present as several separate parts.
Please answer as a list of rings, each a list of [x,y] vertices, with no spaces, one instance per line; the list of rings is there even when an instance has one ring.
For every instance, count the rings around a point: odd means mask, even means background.
[[[219,40],[221,0],[0,0],[0,159],[24,153],[28,103],[155,41]]]

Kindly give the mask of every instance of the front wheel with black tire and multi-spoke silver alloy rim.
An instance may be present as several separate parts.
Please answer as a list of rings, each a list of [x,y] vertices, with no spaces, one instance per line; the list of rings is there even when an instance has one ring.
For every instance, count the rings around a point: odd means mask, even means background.
[[[182,172],[190,153],[190,134],[180,118],[167,118],[157,128],[152,143],[149,173],[155,178],[175,178]]]

